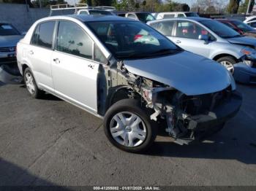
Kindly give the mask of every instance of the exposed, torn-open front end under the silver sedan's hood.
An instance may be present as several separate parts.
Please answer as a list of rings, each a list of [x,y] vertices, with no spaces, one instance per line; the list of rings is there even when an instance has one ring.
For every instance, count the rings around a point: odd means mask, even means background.
[[[233,117],[241,105],[239,99],[235,101],[236,106],[234,101],[230,104],[231,99],[240,96],[234,95],[231,85],[215,93],[186,95],[174,87],[132,74],[122,61],[105,67],[102,69],[105,76],[99,79],[106,77],[107,86],[98,86],[102,88],[98,102],[102,103],[106,98],[106,103],[104,108],[99,106],[99,111],[104,113],[108,105],[121,98],[139,99],[142,106],[151,110],[151,120],[158,122],[159,128],[165,128],[178,144],[189,144],[208,128],[222,128],[225,120]],[[114,100],[117,92],[122,92],[121,97]]]

